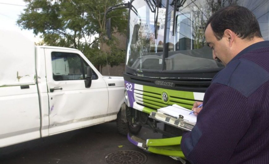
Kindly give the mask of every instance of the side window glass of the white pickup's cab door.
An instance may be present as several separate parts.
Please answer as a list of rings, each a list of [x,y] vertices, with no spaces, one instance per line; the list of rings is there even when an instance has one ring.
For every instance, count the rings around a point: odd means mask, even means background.
[[[51,53],[53,80],[84,80],[86,66],[89,66],[79,54],[69,52]],[[83,64],[83,65],[82,65]],[[83,76],[84,74],[84,76]],[[97,75],[92,71],[92,80],[97,79]]]

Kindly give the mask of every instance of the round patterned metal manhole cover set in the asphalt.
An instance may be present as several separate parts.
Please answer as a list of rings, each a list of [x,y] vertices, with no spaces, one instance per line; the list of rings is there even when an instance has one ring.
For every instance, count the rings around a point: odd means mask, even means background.
[[[108,154],[105,162],[109,164],[145,163],[147,156],[134,150],[121,150]]]

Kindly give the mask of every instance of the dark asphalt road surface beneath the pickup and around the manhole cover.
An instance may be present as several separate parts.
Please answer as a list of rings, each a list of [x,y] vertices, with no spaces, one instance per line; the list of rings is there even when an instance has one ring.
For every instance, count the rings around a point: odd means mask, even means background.
[[[149,138],[159,137],[142,128],[140,134]],[[159,136],[158,136],[159,135]],[[78,129],[21,144],[0,148],[0,163],[106,163],[110,153],[134,150],[143,155],[146,164],[181,163],[170,157],[152,154],[130,143],[126,136],[116,130],[116,123],[109,122]]]

